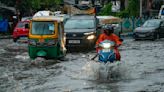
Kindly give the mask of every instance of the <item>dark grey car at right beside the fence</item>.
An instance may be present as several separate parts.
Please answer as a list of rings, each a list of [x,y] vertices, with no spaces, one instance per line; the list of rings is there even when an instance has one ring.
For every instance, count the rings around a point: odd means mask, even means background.
[[[145,21],[141,27],[134,30],[134,39],[156,40],[164,37],[164,20],[150,19]]]

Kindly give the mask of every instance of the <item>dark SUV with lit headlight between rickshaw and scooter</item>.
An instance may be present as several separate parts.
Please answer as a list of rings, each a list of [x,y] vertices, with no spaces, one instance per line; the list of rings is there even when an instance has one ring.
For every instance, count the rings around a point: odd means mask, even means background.
[[[98,34],[98,21],[93,15],[74,15],[65,23],[66,47],[93,48]]]

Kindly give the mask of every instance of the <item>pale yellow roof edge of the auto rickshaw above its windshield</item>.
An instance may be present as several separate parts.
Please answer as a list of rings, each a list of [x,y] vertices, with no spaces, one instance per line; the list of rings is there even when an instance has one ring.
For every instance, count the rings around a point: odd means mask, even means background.
[[[37,16],[32,18],[33,21],[57,21],[57,22],[63,22],[64,17],[63,16]]]

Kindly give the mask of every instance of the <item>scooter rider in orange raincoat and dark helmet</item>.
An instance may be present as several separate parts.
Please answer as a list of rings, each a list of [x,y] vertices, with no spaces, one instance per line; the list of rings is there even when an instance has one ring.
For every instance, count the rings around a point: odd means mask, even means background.
[[[114,28],[112,25],[105,25],[103,26],[103,31],[104,33],[100,34],[97,42],[96,42],[96,51],[98,53],[99,51],[99,47],[98,44],[104,40],[111,40],[114,41],[116,43],[115,48],[114,48],[114,52],[116,54],[116,60],[120,61],[121,59],[121,55],[119,53],[118,47],[122,44],[122,40],[120,40],[120,38],[115,35],[114,32]]]

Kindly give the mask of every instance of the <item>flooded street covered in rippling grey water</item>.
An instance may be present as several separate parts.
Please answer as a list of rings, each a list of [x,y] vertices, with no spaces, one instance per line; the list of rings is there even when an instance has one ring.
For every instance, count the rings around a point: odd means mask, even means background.
[[[164,39],[126,38],[121,62],[107,65],[90,60],[94,51],[32,65],[27,44],[0,42],[0,92],[164,92]]]

